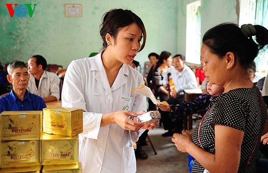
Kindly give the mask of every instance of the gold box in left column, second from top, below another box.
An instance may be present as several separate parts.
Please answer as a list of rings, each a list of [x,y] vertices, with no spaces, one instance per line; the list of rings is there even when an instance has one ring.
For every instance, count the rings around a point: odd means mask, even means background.
[[[39,165],[39,140],[1,141],[0,167],[24,167]]]

